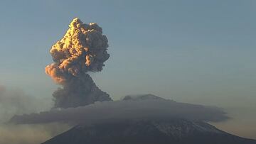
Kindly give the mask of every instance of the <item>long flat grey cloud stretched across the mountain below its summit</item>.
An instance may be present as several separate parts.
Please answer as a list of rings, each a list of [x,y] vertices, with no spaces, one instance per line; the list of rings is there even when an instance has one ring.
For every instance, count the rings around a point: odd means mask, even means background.
[[[95,124],[139,119],[186,118],[193,121],[224,121],[218,108],[178,103],[165,99],[97,102],[87,106],[14,116],[11,123]]]

